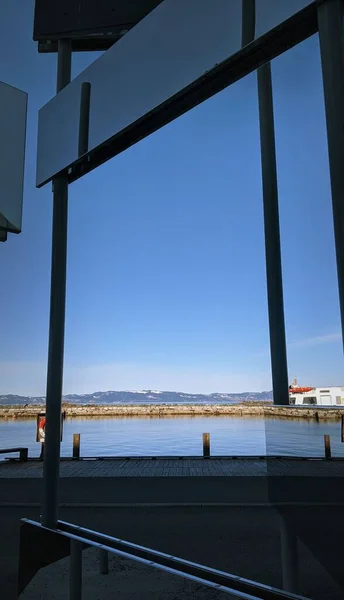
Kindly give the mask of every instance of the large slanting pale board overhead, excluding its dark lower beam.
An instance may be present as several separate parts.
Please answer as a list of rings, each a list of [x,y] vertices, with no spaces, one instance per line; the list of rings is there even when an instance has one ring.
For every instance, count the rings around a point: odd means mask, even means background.
[[[310,0],[256,0],[262,35]],[[242,0],[165,0],[39,112],[37,186],[79,158],[81,85],[90,91],[91,153],[241,47]]]

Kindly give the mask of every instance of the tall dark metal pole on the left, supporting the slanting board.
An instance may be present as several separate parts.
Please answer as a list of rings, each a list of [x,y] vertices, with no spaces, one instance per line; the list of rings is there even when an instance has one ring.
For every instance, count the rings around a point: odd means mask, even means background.
[[[57,92],[71,78],[72,50],[69,40],[58,42]],[[53,140],[52,140],[53,143]],[[49,354],[46,398],[46,437],[43,463],[42,523],[55,528],[58,519],[60,471],[61,404],[63,381],[66,263],[67,263],[68,180],[53,180],[53,240],[51,258]]]

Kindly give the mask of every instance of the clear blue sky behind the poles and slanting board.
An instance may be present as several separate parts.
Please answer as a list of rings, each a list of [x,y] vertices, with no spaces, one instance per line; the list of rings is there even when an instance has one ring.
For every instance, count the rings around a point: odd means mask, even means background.
[[[56,57],[2,0],[0,80],[29,93],[23,231],[0,246],[0,393],[44,394],[51,186],[37,116]],[[74,55],[73,76],[95,59]],[[316,37],[273,62],[290,378],[344,384]],[[53,140],[52,140],[53,143]],[[70,186],[65,393],[271,388],[256,75]]]

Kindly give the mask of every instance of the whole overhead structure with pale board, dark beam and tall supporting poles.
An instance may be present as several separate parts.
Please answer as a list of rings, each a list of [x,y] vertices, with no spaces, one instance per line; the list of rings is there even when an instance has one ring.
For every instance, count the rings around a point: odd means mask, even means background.
[[[288,379],[283,343],[278,182],[268,63],[320,31],[338,275],[344,281],[340,208],[344,189],[344,58],[341,0],[164,0],[155,3],[137,0],[131,7],[141,6],[142,11],[136,12],[131,20],[128,17],[126,29],[120,29],[123,18],[112,20],[109,10],[112,7],[111,14],[116,7],[124,10],[129,2],[56,1],[52,20],[44,10],[45,4],[43,0],[36,1],[35,39],[51,44],[51,51],[58,48],[58,93],[39,112],[36,173],[37,187],[54,182],[46,432],[51,468],[45,468],[43,510],[44,524],[53,527],[57,520],[68,184],[248,73],[263,68],[258,87],[270,347],[274,392],[276,381],[279,381],[279,389],[283,388],[283,394],[280,399],[275,398],[275,403],[286,404]],[[61,14],[63,6],[67,7],[67,14]],[[99,33],[101,36],[109,34],[111,47],[69,82],[72,51],[101,49],[97,46]],[[90,40],[94,41],[93,46],[92,43],[87,46]],[[342,285],[340,303],[344,315]],[[278,372],[280,376],[275,378]]]

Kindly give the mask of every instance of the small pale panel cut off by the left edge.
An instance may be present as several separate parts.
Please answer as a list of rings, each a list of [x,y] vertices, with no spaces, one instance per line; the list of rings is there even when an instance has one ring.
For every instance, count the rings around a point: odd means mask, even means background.
[[[0,82],[0,221],[15,233],[22,221],[26,111],[27,94]]]

